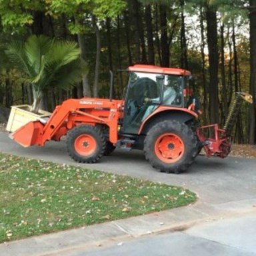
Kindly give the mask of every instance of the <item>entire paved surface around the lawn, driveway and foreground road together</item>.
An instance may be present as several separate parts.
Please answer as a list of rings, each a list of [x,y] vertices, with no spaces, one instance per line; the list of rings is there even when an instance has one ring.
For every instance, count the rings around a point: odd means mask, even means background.
[[[67,155],[64,141],[23,148],[0,133],[0,151],[79,165]],[[140,151],[115,151],[83,167],[181,185],[195,191],[199,201],[157,215],[2,244],[0,255],[256,255],[255,159],[199,156],[187,172],[175,175],[153,169]]]

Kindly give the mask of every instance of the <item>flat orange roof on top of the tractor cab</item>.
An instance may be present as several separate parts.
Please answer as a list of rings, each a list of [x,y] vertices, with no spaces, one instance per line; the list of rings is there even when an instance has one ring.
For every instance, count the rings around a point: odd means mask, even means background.
[[[145,73],[157,73],[167,75],[191,75],[190,71],[185,69],[177,69],[173,67],[158,67],[153,65],[134,65],[128,67],[129,71],[145,72]]]

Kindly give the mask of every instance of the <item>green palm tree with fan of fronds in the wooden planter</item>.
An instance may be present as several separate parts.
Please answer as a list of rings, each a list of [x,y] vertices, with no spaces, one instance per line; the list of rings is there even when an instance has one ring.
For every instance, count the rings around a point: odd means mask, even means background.
[[[32,85],[32,112],[39,111],[43,91],[49,87],[65,89],[81,81],[82,68],[77,43],[32,35],[25,42],[10,43],[6,53],[23,74],[21,79]]]

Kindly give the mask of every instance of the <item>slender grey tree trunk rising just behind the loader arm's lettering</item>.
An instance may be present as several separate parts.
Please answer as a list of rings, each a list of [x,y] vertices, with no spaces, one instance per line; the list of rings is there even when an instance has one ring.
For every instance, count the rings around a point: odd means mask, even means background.
[[[96,17],[93,15],[92,17],[93,28],[95,30],[96,35],[96,61],[95,61],[95,77],[94,77],[94,85],[93,85],[93,97],[98,97],[99,92],[99,58],[101,55],[101,37],[99,33],[99,27],[97,25]]]

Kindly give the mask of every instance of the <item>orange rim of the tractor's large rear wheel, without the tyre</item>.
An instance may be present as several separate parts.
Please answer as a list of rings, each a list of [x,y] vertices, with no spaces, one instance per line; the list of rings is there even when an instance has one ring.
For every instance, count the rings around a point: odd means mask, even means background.
[[[155,142],[155,154],[165,163],[175,163],[183,157],[185,146],[176,134],[165,133],[158,137]]]

